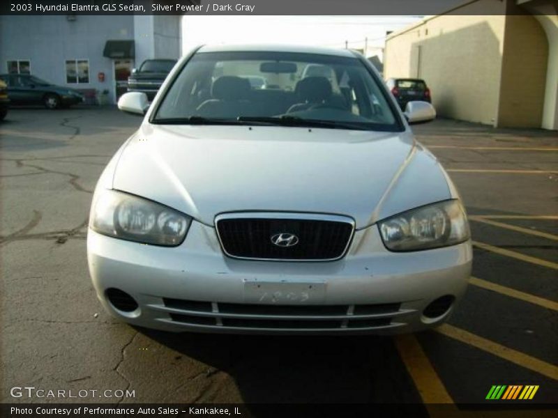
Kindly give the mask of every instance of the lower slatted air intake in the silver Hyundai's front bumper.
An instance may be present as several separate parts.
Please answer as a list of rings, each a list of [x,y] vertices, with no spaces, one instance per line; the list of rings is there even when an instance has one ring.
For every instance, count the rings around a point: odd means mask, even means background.
[[[370,330],[399,326],[395,316],[408,311],[401,304],[357,305],[264,305],[222,302],[197,302],[163,298],[163,311],[183,325],[205,325],[253,330]]]

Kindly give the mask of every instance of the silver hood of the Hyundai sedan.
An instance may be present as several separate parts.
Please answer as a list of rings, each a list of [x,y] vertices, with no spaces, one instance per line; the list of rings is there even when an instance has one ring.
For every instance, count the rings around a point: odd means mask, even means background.
[[[409,131],[144,123],[110,167],[114,189],[209,225],[265,210],[347,215],[362,228],[452,197]]]

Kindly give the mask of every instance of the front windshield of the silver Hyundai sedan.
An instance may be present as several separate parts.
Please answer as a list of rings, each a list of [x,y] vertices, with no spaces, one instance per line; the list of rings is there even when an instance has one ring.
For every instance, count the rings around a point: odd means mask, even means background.
[[[359,59],[286,52],[201,52],[176,76],[153,123],[248,123],[400,130]]]

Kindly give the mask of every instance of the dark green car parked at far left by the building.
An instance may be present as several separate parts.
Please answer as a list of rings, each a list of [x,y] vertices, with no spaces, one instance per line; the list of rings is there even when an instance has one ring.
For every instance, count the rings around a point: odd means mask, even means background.
[[[2,74],[0,80],[8,85],[11,104],[44,104],[47,109],[57,109],[84,100],[79,91],[56,86],[34,75]]]

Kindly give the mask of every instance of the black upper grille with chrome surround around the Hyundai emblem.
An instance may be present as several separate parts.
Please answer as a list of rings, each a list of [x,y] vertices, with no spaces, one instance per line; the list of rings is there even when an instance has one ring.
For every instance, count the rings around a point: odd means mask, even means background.
[[[324,261],[336,260],[345,255],[354,229],[351,219],[332,218],[219,217],[216,226],[221,245],[228,256],[264,260]],[[279,234],[295,235],[296,245],[274,245],[271,242],[272,238]]]

